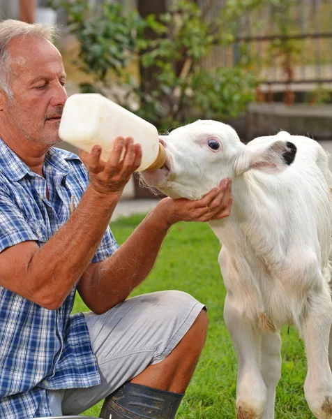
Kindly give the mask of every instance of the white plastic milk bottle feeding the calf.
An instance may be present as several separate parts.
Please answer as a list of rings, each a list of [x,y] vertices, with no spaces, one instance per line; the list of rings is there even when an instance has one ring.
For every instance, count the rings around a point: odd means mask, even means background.
[[[59,136],[85,152],[91,152],[93,145],[100,145],[103,149],[100,158],[104,161],[109,158],[117,137],[133,137],[142,148],[142,163],[137,172],[161,168],[166,159],[156,126],[101,94],[70,96],[63,108]]]

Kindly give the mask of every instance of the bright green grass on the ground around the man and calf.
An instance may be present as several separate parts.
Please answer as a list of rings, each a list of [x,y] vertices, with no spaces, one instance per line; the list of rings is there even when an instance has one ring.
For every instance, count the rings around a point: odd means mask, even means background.
[[[112,223],[112,231],[123,243],[141,216]],[[193,380],[177,419],[233,419],[236,392],[236,355],[225,328],[222,310],[225,287],[218,265],[220,244],[204,223],[178,223],[167,235],[156,266],[133,295],[178,289],[204,302],[209,310],[209,332]],[[75,311],[86,311],[77,297]],[[303,342],[291,328],[282,330],[282,378],[278,385],[276,418],[312,419],[303,395],[306,361]],[[86,411],[98,417],[102,403]]]

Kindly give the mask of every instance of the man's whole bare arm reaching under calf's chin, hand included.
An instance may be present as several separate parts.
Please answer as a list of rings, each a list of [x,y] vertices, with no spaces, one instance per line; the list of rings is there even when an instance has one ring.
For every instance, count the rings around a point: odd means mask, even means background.
[[[202,200],[161,200],[110,258],[91,264],[84,272],[78,286],[82,299],[96,314],[114,307],[147,277],[172,224],[220,219],[229,215],[231,207],[227,179]]]

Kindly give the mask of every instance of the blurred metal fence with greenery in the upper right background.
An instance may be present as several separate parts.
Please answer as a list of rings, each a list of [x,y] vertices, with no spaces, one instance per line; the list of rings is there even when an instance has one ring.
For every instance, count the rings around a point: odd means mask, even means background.
[[[225,12],[226,0],[197,3],[209,8],[211,24]],[[243,13],[235,22],[235,42],[213,47],[203,68],[243,64],[269,84],[331,83],[332,0],[285,0],[284,9],[269,3]]]

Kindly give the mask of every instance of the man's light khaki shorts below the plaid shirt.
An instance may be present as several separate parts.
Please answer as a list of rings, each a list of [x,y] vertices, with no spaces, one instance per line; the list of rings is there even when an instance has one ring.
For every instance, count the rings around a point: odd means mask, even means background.
[[[49,390],[53,416],[78,415],[163,361],[203,308],[187,293],[161,291],[130,298],[101,315],[86,313],[101,384]]]

